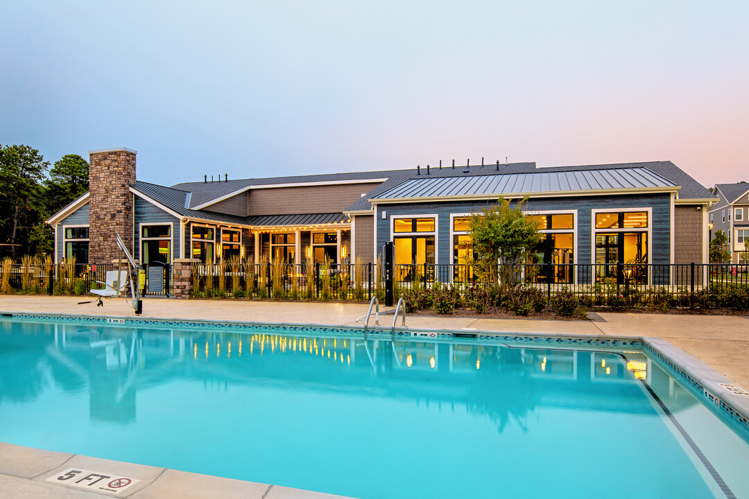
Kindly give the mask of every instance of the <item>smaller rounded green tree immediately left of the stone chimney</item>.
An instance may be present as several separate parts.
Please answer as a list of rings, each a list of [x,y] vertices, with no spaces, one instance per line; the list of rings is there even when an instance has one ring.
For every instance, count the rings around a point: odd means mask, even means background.
[[[88,162],[77,154],[62,156],[44,186],[47,215],[52,215],[88,191]]]

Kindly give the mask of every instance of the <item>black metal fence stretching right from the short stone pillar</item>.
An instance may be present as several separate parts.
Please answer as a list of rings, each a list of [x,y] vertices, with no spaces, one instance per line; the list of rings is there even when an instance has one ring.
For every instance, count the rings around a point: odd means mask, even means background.
[[[196,271],[197,296],[369,301],[384,295],[380,266],[372,263],[214,264],[199,265]],[[652,296],[685,301],[709,290],[749,287],[749,266],[743,264],[533,264],[499,271],[497,275],[509,276],[513,286],[535,287],[548,300],[569,290],[589,304],[607,304],[612,298],[646,303]],[[393,275],[396,298],[407,290],[443,284],[461,294],[502,284],[483,282],[471,266],[458,264],[395,265]]]

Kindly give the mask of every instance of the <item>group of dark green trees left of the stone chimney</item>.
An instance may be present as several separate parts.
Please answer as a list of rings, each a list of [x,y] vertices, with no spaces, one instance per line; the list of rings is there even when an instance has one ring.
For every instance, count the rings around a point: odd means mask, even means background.
[[[38,150],[0,144],[0,258],[52,254],[46,219],[88,191],[88,162],[66,154],[51,165]]]

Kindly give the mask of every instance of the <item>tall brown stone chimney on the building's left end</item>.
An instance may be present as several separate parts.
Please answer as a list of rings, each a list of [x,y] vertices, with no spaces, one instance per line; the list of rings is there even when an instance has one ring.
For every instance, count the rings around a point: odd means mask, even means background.
[[[88,151],[88,261],[110,263],[117,239],[133,254],[133,193],[137,151],[127,147]]]

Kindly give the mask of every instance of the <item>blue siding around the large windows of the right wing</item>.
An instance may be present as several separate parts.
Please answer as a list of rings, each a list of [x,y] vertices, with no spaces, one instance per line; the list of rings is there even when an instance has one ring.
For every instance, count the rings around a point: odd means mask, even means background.
[[[591,254],[591,210],[606,209],[612,212],[629,208],[652,208],[652,255],[651,263],[670,263],[671,211],[670,195],[617,195],[580,196],[571,198],[532,198],[525,209],[545,211],[555,209],[577,209],[577,240],[575,241],[575,263],[592,263]],[[390,216],[413,216],[436,213],[437,263],[452,263],[450,251],[450,215],[452,213],[479,212],[494,202],[443,202],[443,203],[398,203],[377,205],[377,255],[382,245],[390,239]],[[382,218],[383,210],[386,218]]]

